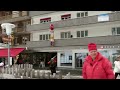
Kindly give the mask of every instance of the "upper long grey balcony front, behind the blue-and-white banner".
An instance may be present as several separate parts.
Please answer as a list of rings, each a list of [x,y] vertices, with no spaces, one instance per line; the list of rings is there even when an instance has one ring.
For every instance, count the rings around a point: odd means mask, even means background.
[[[120,12],[117,13],[110,13],[109,14],[109,22],[112,21],[120,21]],[[98,22],[98,16],[89,16],[84,18],[75,18],[69,19],[65,21],[55,21],[52,22],[55,28],[63,28],[63,27],[70,27],[70,26],[80,26],[80,25],[87,25],[87,24],[96,24]],[[46,30],[49,29],[50,23],[46,24],[35,24],[35,25],[27,25],[27,31],[32,30]]]

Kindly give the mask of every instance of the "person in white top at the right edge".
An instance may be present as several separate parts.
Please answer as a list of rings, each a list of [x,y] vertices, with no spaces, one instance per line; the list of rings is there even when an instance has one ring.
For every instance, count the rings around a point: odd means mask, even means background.
[[[117,56],[115,62],[115,67],[114,67],[114,73],[115,73],[115,79],[120,75],[120,56]]]

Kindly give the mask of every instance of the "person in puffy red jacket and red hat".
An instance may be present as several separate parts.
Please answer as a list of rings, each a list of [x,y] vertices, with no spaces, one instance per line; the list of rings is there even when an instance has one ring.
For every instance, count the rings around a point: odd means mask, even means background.
[[[97,51],[95,43],[88,44],[89,55],[85,58],[83,79],[115,79],[112,63]]]

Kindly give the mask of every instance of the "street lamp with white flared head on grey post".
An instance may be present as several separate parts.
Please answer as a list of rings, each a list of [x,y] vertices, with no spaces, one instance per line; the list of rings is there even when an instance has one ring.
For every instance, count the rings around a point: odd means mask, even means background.
[[[12,29],[15,28],[15,25],[11,23],[3,23],[1,24],[1,27],[2,29],[5,29],[9,39],[12,33]],[[8,66],[10,66],[10,42],[9,41],[8,41]]]

